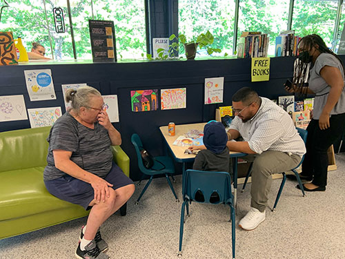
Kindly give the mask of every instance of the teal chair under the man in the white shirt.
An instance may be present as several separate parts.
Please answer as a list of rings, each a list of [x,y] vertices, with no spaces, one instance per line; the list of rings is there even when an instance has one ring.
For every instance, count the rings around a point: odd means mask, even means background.
[[[296,129],[297,129],[299,135],[302,137],[302,140],[304,141],[304,144],[306,144],[306,137],[308,135],[308,131],[306,131],[303,128],[296,128]],[[299,174],[296,171],[296,169],[302,164],[303,160],[304,160],[304,155],[302,157],[301,162],[299,162],[299,164],[295,168],[291,169],[291,171],[293,171],[293,173],[295,173],[296,178],[297,178],[297,182],[298,182],[299,186],[301,186],[301,191],[302,191],[303,197],[305,197],[306,193],[304,193],[304,188],[303,188],[303,184],[302,184],[301,178],[299,178]],[[242,191],[241,191],[242,193],[244,191],[244,188],[246,188],[246,184],[248,182],[248,178],[250,177],[250,174],[252,173],[252,166],[253,166],[253,163],[251,163],[250,166],[249,166],[248,173],[246,175],[246,180],[244,180],[244,184],[243,184],[243,187],[242,187]],[[283,174],[283,180],[282,180],[282,183],[280,184],[279,191],[278,191],[278,194],[277,194],[277,198],[275,198],[275,204],[274,204],[273,209],[272,209],[273,212],[275,211],[275,208],[277,207],[280,195],[282,194],[282,191],[283,191],[283,188],[284,188],[284,184],[286,182],[286,174],[285,174],[285,172],[283,172],[282,174]]]

